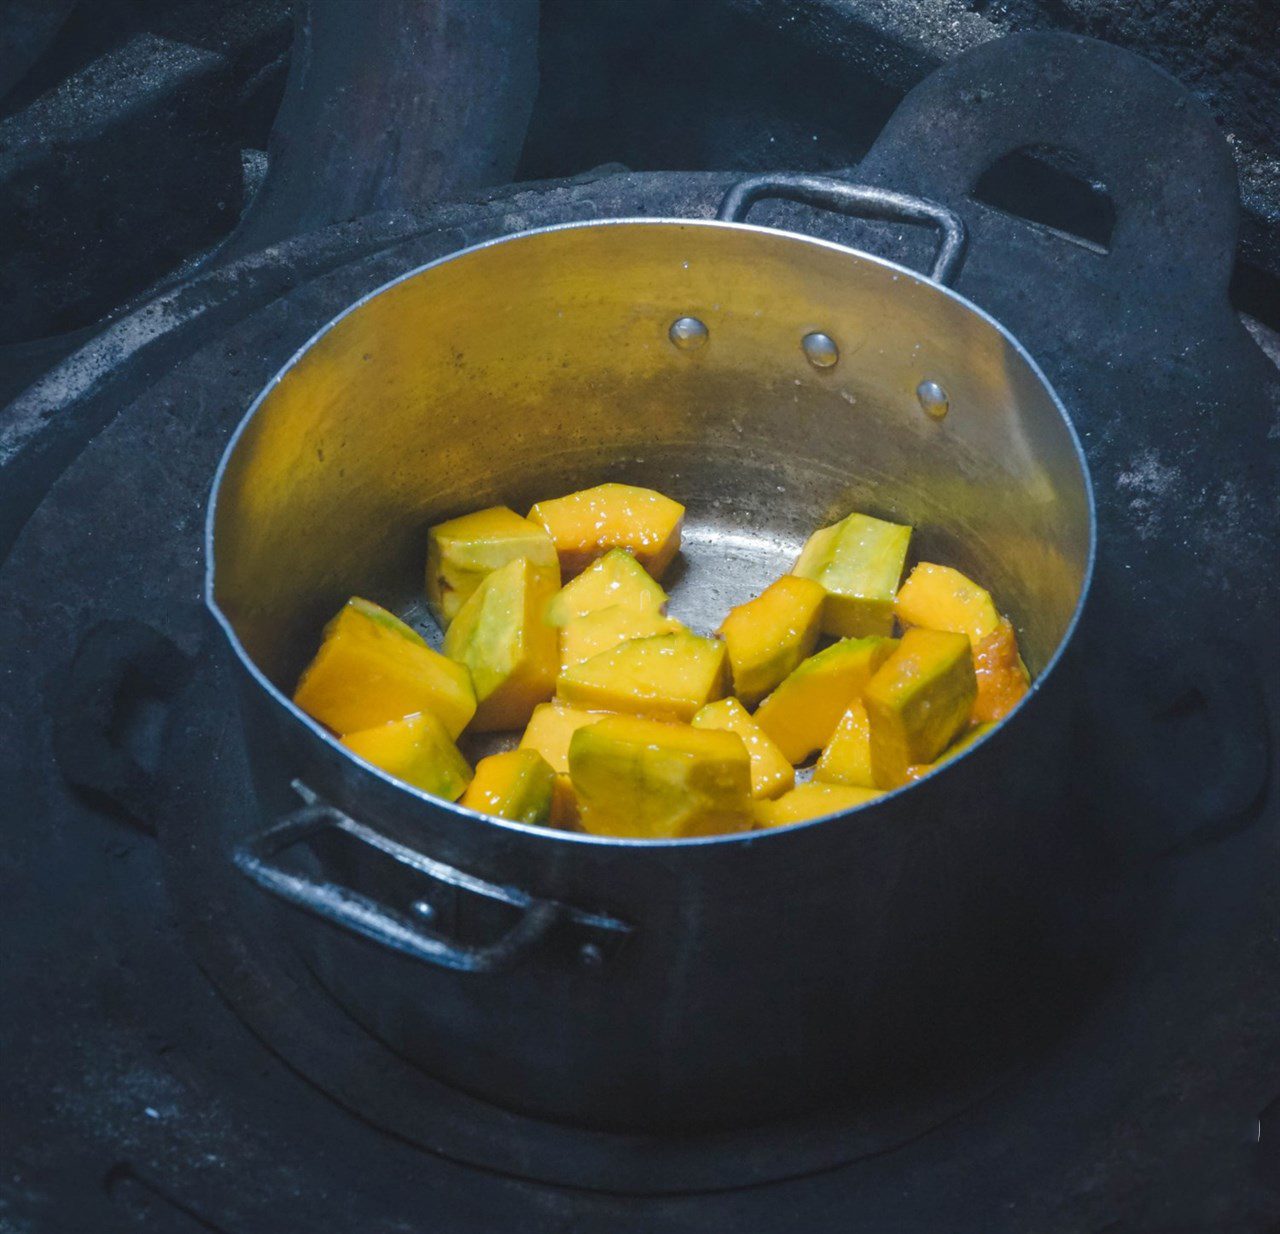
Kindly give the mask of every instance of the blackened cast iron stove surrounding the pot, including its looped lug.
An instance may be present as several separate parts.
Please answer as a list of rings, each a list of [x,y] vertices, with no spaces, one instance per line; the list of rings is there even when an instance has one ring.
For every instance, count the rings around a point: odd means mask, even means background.
[[[972,200],[992,161],[1044,145],[1107,186],[1107,251]],[[1037,357],[1093,467],[1097,655],[1064,751],[1093,950],[1064,965],[1056,1022],[1028,1020],[1004,1066],[856,1118],[621,1143],[408,1068],[230,864],[204,861],[191,836],[251,809],[200,529],[253,394],[406,269],[557,221],[708,218],[740,177],[604,169],[375,202],[268,247],[233,238],[6,424],[10,442],[41,426],[13,457],[45,470],[9,488],[22,526],[0,568],[0,1228],[1280,1229],[1277,376],[1225,297],[1224,143],[1143,61],[1029,36],[927,79],[845,174],[960,210],[961,293]],[[753,221],[925,261],[899,227],[790,205]]]

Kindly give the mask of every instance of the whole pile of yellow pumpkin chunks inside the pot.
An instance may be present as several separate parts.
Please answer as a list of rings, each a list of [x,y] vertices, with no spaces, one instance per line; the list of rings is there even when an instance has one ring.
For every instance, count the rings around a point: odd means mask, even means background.
[[[659,581],[682,521],[660,493],[604,484],[527,518],[494,507],[443,522],[426,565],[443,654],[353,598],[294,701],[434,796],[671,840],[864,805],[934,769],[1028,687],[991,595],[929,562],[901,582],[911,529],[860,513],[814,533],[714,637],[695,634],[666,614]],[[457,745],[521,730],[517,749],[474,771]]]

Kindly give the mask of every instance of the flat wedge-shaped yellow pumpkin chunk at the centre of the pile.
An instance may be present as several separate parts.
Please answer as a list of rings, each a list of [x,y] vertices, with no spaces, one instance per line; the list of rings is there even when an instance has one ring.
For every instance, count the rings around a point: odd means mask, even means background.
[[[573,707],[690,721],[721,698],[724,644],[690,630],[631,639],[561,673],[556,693]]]

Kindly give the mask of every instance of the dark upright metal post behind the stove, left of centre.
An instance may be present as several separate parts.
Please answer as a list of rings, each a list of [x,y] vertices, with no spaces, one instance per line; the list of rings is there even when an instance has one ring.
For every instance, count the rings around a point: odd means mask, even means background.
[[[227,253],[509,180],[536,82],[538,0],[306,0]]]

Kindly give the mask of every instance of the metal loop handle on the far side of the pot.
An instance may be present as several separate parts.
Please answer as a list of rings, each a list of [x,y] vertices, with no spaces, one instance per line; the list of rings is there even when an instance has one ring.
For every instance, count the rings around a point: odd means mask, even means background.
[[[753,175],[739,180],[721,202],[716,218],[722,223],[741,223],[758,201],[785,197],[805,206],[836,210],[864,219],[886,219],[891,223],[923,223],[941,233],[938,252],[933,259],[929,278],[950,287],[964,262],[969,236],[964,220],[954,210],[909,193],[896,193],[890,188],[870,184],[850,184],[829,175],[800,175],[778,173]]]

